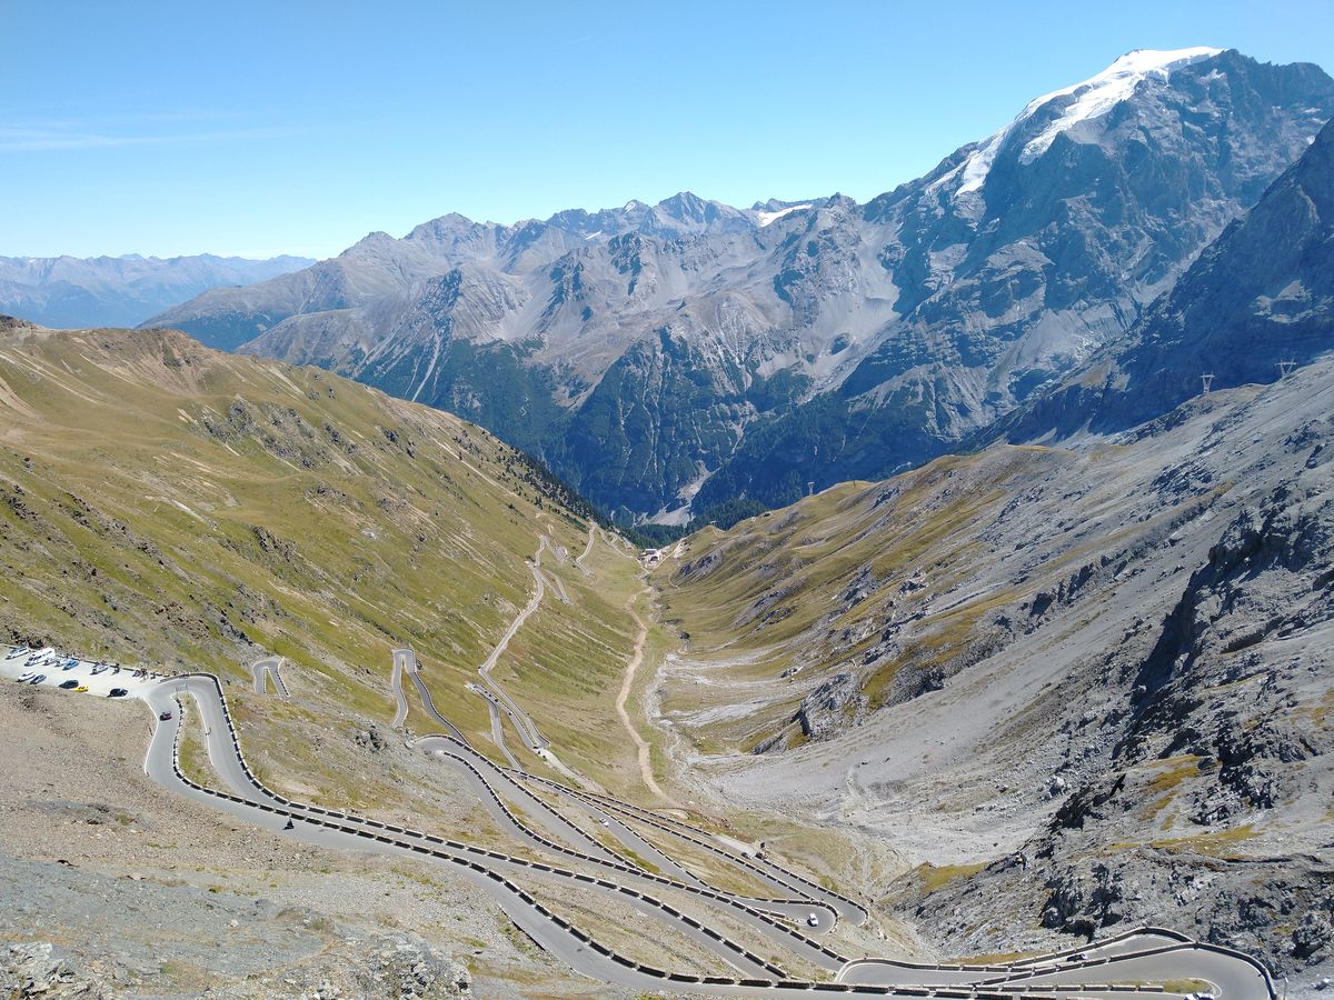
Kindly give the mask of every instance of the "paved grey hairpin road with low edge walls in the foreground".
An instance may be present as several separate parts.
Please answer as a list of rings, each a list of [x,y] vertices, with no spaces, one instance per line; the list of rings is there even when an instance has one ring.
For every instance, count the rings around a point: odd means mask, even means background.
[[[88,664],[81,667],[88,669]],[[0,676],[16,677],[21,669],[21,660],[0,663]],[[862,923],[867,920],[867,911],[860,904],[776,865],[771,859],[738,856],[718,847],[707,832],[690,824],[620,803],[610,796],[582,792],[518,769],[507,771],[496,767],[468,747],[462,733],[435,709],[430,693],[416,680],[416,660],[410,651],[395,651],[394,687],[400,705],[396,712],[399,721],[407,712],[407,695],[402,681],[404,672],[415,679],[427,716],[450,731],[448,735],[423,737],[414,745],[442,765],[460,771],[507,836],[532,851],[552,856],[558,863],[508,855],[428,832],[297,803],[272,792],[255,777],[245,763],[221,684],[212,675],[148,677],[135,685],[131,696],[143,699],[157,716],[144,759],[144,771],[155,781],[179,795],[207,803],[263,828],[283,832],[291,820],[293,828],[285,835],[305,843],[416,857],[447,867],[484,888],[500,909],[554,957],[583,975],[630,989],[768,997],[810,996],[818,992],[963,1000],[1002,1000],[1019,996],[1123,1000],[1137,995],[1171,1000],[1179,995],[1165,992],[1162,983],[1173,979],[1199,979],[1211,984],[1219,1000],[1274,997],[1267,972],[1247,956],[1153,928],[1121,935],[1082,951],[1071,949],[1013,963],[922,964],[884,959],[848,961],[815,937],[807,936],[804,931],[824,936],[836,928],[839,917]],[[100,681],[101,677],[95,676],[92,680]],[[71,696],[80,695],[71,693]],[[161,719],[163,713],[169,713],[171,717]],[[201,723],[196,732],[204,740],[212,772],[227,791],[208,788],[200,784],[201,776],[187,776],[181,772],[180,736],[184,720],[195,713]],[[615,813],[624,817],[628,823],[619,825],[626,839],[616,837],[616,840],[636,855],[643,856],[640,849],[650,845],[639,837],[631,824],[647,825],[660,833],[712,851],[719,861],[727,861],[759,877],[782,896],[763,900],[734,896],[707,885],[676,861],[671,861],[674,871],[648,871],[622,857],[612,845],[599,843],[596,837],[590,836],[587,831],[526,788],[526,784],[534,784],[563,800],[574,801],[590,815],[610,819]],[[524,816],[534,817],[544,832],[535,829],[524,817],[516,815],[507,800],[520,801],[526,811]],[[670,860],[664,851],[659,848],[654,851],[658,851],[659,857]],[[682,873],[688,877],[679,877]],[[530,891],[516,884],[515,877],[531,879],[543,887],[550,887],[552,893],[548,895],[556,899],[562,885],[602,893],[608,900],[628,905],[656,921],[663,931],[690,939],[727,963],[738,975],[706,976],[672,972],[618,955],[552,912]],[[676,903],[676,899],[682,903]],[[700,915],[687,912],[683,905],[700,907]],[[711,925],[710,915],[714,913],[726,913],[731,924],[744,925],[748,933],[762,937],[770,945],[836,973],[835,979],[832,981],[790,979],[783,968],[775,964],[775,959],[756,953],[743,941],[734,940],[727,931]]]

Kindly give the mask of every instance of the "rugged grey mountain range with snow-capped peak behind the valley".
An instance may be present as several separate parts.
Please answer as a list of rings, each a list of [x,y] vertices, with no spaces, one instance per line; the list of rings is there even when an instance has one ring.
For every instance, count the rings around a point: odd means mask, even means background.
[[[736,209],[458,215],[155,316],[472,419],[623,520],[939,455],[1125,335],[1334,116],[1334,80],[1129,53],[924,177]]]

